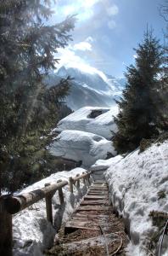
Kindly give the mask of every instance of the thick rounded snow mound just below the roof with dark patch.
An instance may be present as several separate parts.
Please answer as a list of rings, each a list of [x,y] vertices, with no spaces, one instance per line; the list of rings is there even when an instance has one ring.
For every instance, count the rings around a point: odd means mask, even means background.
[[[116,154],[110,141],[85,131],[62,131],[50,145],[50,151],[65,159],[81,160],[86,167],[98,159],[106,159],[108,152]]]

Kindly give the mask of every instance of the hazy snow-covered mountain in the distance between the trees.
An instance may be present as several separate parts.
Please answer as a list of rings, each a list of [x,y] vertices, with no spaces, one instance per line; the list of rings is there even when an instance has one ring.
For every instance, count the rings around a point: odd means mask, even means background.
[[[50,76],[48,84],[56,84],[60,79],[68,76],[73,80],[70,95],[65,101],[73,110],[86,106],[114,106],[115,99],[121,96],[121,91],[125,86],[125,79],[117,79],[94,68],[84,72],[75,67],[60,67],[57,73]]]

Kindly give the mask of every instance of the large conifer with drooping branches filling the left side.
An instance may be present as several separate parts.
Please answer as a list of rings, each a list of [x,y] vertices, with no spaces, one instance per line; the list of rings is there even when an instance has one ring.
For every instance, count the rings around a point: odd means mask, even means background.
[[[74,17],[49,26],[49,0],[0,2],[1,186],[18,189],[48,172],[45,147],[57,124],[69,78],[47,88],[58,48],[71,40]]]

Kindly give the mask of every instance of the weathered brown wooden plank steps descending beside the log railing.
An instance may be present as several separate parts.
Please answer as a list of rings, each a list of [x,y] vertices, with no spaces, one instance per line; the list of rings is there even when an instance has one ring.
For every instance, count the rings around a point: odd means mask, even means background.
[[[76,211],[59,232],[59,240],[46,255],[125,255],[126,233],[113,214],[104,181],[92,183]]]

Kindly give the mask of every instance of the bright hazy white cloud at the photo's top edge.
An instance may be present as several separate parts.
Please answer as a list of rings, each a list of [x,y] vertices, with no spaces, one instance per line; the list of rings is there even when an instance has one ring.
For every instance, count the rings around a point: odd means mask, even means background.
[[[64,2],[64,1],[63,1]],[[113,29],[115,21],[111,17],[119,13],[119,8],[113,0],[76,0],[55,5],[55,16],[77,15],[76,29],[85,27],[87,30],[98,30],[109,22],[109,28]]]

